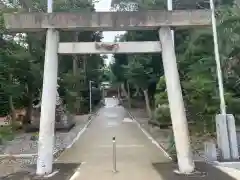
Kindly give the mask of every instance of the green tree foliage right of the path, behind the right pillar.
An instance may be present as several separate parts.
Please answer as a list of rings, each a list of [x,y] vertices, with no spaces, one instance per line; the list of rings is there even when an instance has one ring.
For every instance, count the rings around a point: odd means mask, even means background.
[[[119,11],[129,9],[127,2],[115,1],[115,9]],[[166,2],[145,1],[134,6],[132,3],[130,9],[166,9]],[[209,3],[203,0],[181,1],[180,4],[178,2],[180,1],[174,3],[175,9],[209,8]],[[233,5],[232,0],[216,1],[216,7],[227,112],[233,113],[238,121],[240,10]],[[159,39],[156,31],[131,31],[120,38],[120,41],[133,40]],[[215,114],[219,113],[220,108],[211,27],[175,29],[175,48],[188,120],[201,125],[201,130],[213,131]],[[115,55],[115,62],[111,67],[116,77],[115,81],[120,83],[128,81],[132,91],[140,88],[143,91],[147,89],[150,96],[154,94],[154,103],[150,103],[154,111],[153,118],[160,122],[170,122],[160,55]]]

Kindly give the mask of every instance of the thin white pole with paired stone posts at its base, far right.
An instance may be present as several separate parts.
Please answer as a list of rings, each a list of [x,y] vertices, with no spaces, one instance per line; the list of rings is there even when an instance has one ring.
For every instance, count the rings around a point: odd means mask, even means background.
[[[210,0],[210,9],[212,13],[212,31],[214,42],[214,55],[217,66],[217,78],[220,97],[220,112],[221,114],[216,116],[216,131],[217,131],[217,143],[221,150],[223,159],[238,159],[238,145],[236,136],[235,119],[231,114],[226,113],[226,103],[224,98],[224,87],[221,69],[221,60],[218,48],[218,34],[215,17],[215,5],[213,0]]]

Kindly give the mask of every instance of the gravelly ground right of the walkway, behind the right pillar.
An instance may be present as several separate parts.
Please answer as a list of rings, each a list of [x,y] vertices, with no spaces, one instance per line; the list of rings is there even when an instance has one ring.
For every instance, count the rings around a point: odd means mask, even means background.
[[[148,124],[148,117],[146,115],[146,112],[142,109],[131,109],[129,111],[135,119],[141,124],[141,126],[164,148],[167,149],[170,146],[170,136],[171,136],[171,130],[169,129],[160,129],[156,126],[152,126]],[[191,140],[196,141],[196,138],[191,137]],[[193,142],[192,142],[193,144]],[[204,156],[204,150],[202,149],[203,142],[197,143],[197,141],[194,143],[194,153],[193,158],[194,160],[201,160],[204,161],[206,158]]]

